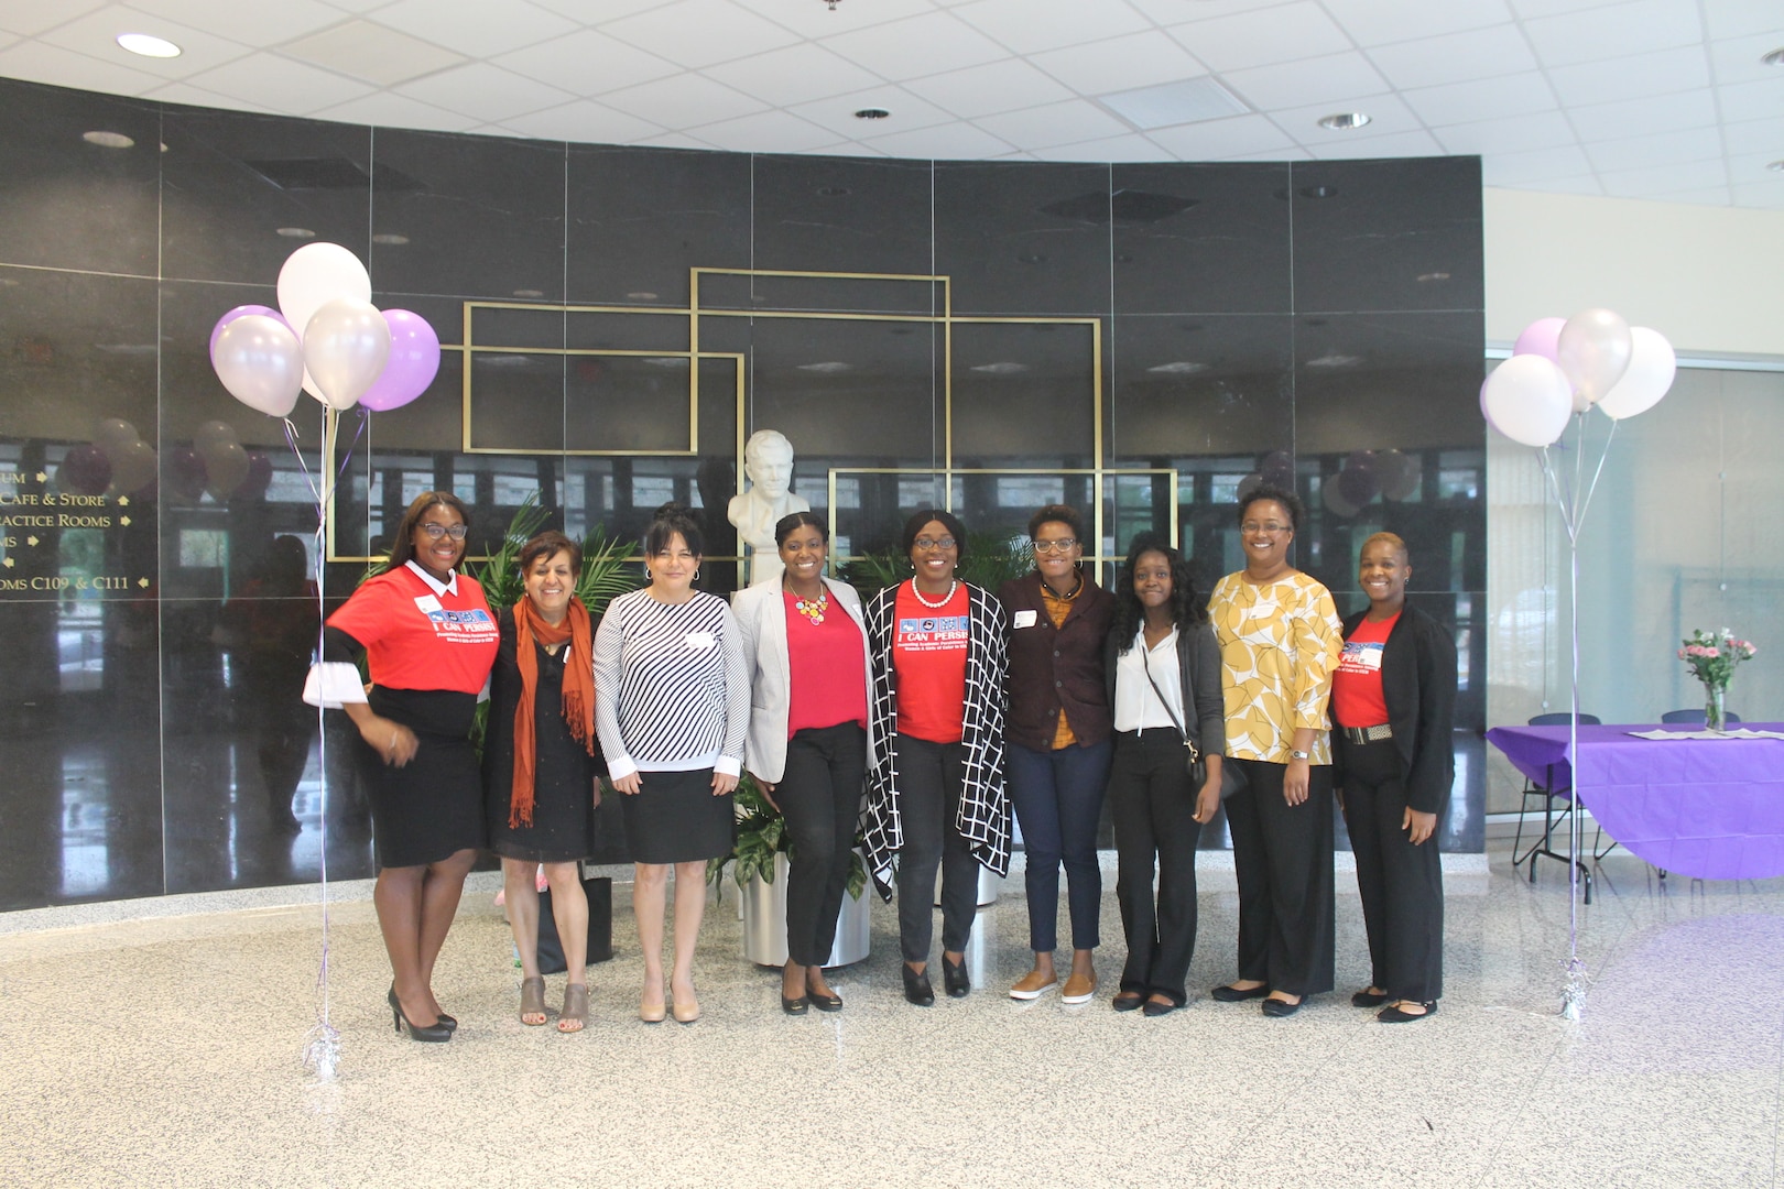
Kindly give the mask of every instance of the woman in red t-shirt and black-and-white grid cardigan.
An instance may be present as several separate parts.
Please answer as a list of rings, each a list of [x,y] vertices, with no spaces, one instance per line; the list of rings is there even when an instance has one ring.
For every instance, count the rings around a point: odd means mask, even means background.
[[[1003,775],[1003,604],[954,578],[967,529],[947,512],[904,524],[912,578],[867,611],[874,738],[887,740],[867,777],[867,863],[885,884],[897,859],[904,998],[935,1002],[929,939],[942,868],[942,980],[970,989],[965,948],[978,911],[979,865],[1010,870],[1010,797]]]

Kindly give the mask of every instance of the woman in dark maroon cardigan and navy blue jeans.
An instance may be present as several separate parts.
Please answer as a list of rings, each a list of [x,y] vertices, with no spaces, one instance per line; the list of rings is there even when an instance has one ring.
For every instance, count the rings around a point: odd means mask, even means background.
[[[1076,508],[1042,508],[1029,517],[1028,535],[1035,570],[997,592],[1010,636],[1004,772],[1028,852],[1028,939],[1035,950],[1035,968],[1010,988],[1010,998],[1040,998],[1060,986],[1053,950],[1063,863],[1072,973],[1061,998],[1083,1004],[1097,991],[1097,820],[1113,749],[1103,638],[1115,597],[1083,570],[1085,522]]]

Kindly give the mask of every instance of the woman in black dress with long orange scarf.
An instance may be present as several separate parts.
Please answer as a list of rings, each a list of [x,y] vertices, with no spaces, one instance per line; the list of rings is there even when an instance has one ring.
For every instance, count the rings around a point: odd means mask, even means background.
[[[521,954],[521,1023],[546,1021],[539,973],[539,884],[542,863],[569,964],[558,1032],[589,1021],[585,982],[589,900],[576,861],[594,854],[594,808],[601,800],[594,734],[594,631],[576,599],[582,549],[564,533],[539,533],[521,547],[526,597],[503,610],[501,647],[489,679],[483,788],[491,849]]]

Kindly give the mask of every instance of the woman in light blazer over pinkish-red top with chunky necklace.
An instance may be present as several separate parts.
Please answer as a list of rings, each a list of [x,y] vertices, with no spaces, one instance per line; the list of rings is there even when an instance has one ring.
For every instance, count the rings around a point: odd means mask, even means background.
[[[867,629],[862,597],[824,578],[830,531],[810,512],[774,524],[787,567],[778,583],[731,599],[749,668],[749,740],[744,767],[787,818],[787,966],[781,1011],[840,1011],[824,982],[837,939],[862,788],[867,734]]]

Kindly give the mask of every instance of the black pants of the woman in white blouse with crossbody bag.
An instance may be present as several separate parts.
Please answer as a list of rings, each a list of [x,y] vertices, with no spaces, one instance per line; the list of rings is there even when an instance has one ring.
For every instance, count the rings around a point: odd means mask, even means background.
[[[1120,731],[1110,772],[1110,815],[1115,818],[1115,900],[1127,934],[1120,989],[1163,995],[1179,1007],[1195,952],[1195,793],[1176,731]],[[1158,856],[1158,900],[1152,900],[1152,857]]]

